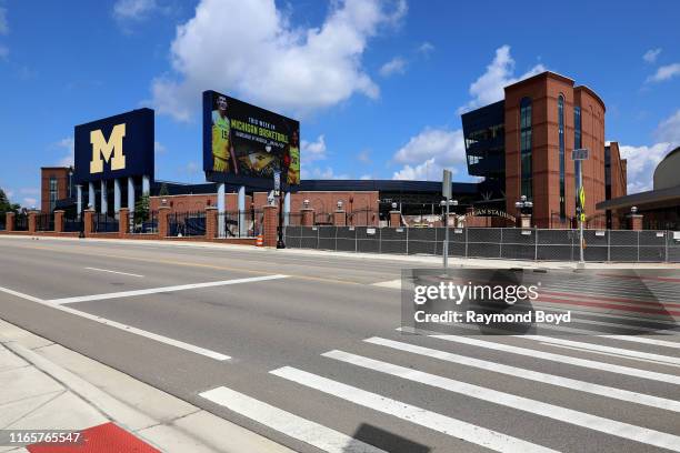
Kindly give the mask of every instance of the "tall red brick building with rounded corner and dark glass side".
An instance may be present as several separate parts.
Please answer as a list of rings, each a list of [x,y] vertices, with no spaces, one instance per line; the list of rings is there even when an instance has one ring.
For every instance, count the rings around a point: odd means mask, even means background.
[[[577,170],[571,151],[587,148],[582,163],[586,213],[604,228],[597,203],[626,193],[626,163],[618,144],[606,152],[606,107],[598,94],[554,72],[504,88],[504,99],[462,115],[468,171],[502,188],[504,209],[522,195],[533,202],[533,224],[569,228],[577,211]]]

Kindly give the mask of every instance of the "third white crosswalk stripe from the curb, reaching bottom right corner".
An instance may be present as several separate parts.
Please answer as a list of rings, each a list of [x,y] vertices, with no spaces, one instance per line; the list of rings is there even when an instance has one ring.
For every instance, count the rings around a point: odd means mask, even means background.
[[[599,431],[606,434],[641,442],[648,445],[658,446],[680,452],[680,436],[663,433],[648,427],[637,426],[630,423],[618,422],[599,415],[562,407],[554,404],[543,403],[523,396],[513,395],[497,390],[456,381],[449,378],[426,373],[422,371],[408,369],[401,365],[382,362],[361,355],[351,354],[343,351],[330,351],[321,354],[326,358],[334,359],[344,363],[351,363],[368,370],[379,371],[397,378],[442,389],[449,392],[459,393],[477,400],[504,405],[532,414],[546,416],[576,426]]]

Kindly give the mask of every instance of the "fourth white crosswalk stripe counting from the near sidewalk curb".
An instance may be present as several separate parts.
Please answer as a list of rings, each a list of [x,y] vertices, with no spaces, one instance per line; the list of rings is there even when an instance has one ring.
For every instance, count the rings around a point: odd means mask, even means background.
[[[413,354],[420,354],[451,363],[459,363],[461,365],[473,366],[477,369],[507,374],[514,378],[521,378],[530,381],[542,382],[546,384],[558,385],[579,392],[612,397],[616,400],[642,404],[651,407],[658,407],[667,411],[680,412],[680,402],[668,400],[664,397],[647,395],[643,393],[631,392],[628,390],[616,389],[607,385],[592,384],[590,382],[579,381],[570,378],[562,378],[554,374],[541,373],[538,371],[527,370],[519,366],[503,365],[501,363],[452,354],[450,352],[418,346],[414,344],[382,339],[379,336],[373,336],[364,341],[371,344],[392,348],[399,351],[411,352]]]

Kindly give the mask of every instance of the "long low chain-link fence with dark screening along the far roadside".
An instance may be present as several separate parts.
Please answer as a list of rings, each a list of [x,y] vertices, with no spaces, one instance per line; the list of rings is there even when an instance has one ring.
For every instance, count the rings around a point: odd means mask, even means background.
[[[286,246],[441,255],[444,228],[286,226]],[[586,261],[680,262],[680,232],[586,230]],[[578,230],[450,228],[449,255],[578,261]]]

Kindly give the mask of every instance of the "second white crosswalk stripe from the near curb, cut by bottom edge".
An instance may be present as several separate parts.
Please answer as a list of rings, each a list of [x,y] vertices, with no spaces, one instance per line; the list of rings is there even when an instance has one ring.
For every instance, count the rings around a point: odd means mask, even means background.
[[[451,435],[470,443],[484,446],[498,452],[556,452],[554,450],[534,443],[512,437],[497,431],[477,426],[457,419],[428,411],[401,401],[371,393],[351,385],[347,385],[317,374],[308,373],[292,366],[283,366],[270,371],[279,378],[298,384],[316,389],[320,392],[350,401],[354,404],[396,416],[407,422],[426,426],[430,430]]]

